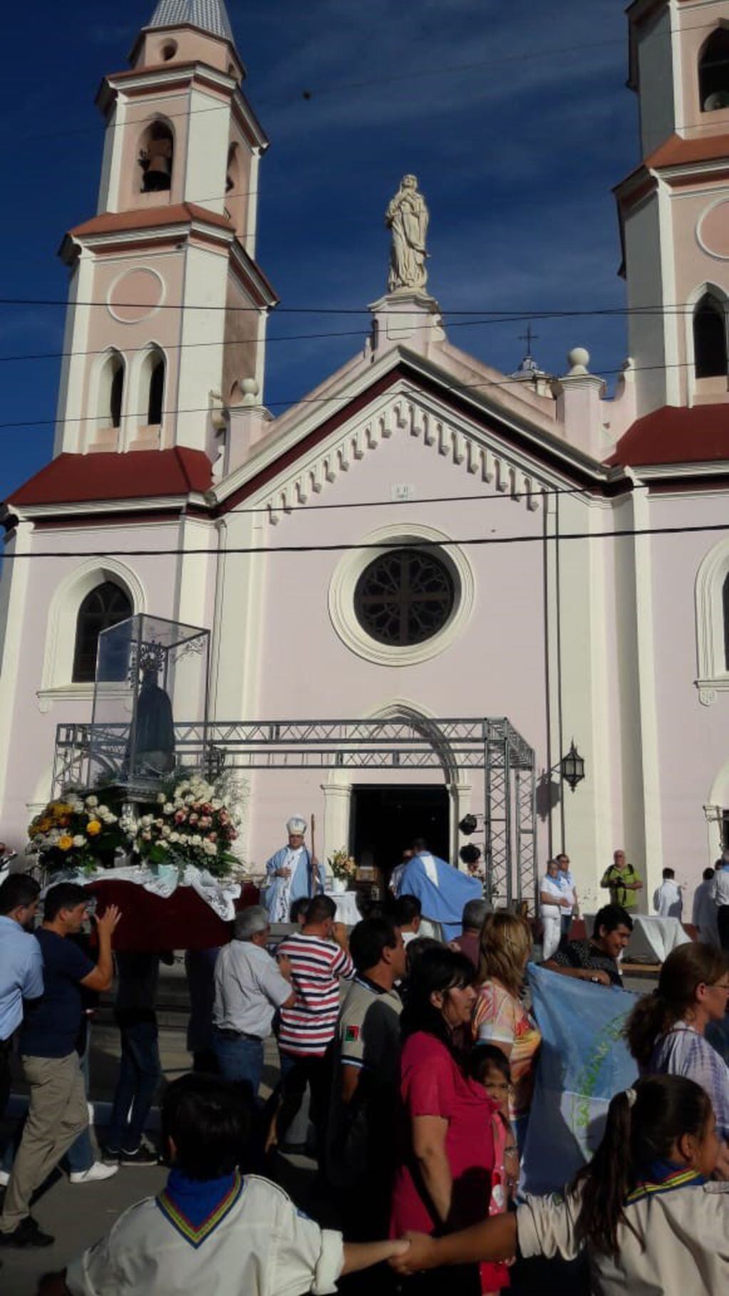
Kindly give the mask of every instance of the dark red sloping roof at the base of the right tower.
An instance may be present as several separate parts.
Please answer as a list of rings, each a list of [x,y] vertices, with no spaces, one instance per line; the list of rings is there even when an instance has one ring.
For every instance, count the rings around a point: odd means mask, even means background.
[[[609,464],[703,464],[729,460],[729,404],[663,406],[620,437]]]

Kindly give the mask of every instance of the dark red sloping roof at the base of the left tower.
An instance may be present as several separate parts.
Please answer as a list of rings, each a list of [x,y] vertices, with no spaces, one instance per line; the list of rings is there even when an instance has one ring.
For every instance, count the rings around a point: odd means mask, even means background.
[[[212,485],[202,450],[139,450],[126,455],[58,455],[10,495],[9,503],[80,504],[203,492]]]

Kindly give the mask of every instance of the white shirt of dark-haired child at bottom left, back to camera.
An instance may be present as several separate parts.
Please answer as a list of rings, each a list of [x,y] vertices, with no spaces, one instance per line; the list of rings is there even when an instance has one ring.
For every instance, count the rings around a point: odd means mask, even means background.
[[[202,1245],[145,1198],[71,1261],[66,1287],[73,1296],[325,1296],[337,1291],[343,1262],[341,1232],[320,1229],[282,1188],[250,1174]]]

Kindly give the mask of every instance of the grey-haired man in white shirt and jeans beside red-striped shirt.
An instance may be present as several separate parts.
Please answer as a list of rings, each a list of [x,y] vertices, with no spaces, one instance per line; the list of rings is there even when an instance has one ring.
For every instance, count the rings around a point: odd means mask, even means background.
[[[265,949],[268,911],[252,905],[236,915],[234,936],[215,962],[212,1046],[225,1080],[247,1081],[258,1098],[263,1043],[278,1008],[295,1003],[291,966]]]

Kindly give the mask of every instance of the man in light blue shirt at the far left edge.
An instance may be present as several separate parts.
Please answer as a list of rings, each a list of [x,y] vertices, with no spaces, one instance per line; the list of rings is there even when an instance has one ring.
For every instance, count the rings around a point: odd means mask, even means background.
[[[0,886],[0,1120],[10,1096],[10,1055],[23,1020],[23,999],[43,994],[43,958],[30,928],[40,886],[27,874],[13,874]]]

